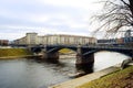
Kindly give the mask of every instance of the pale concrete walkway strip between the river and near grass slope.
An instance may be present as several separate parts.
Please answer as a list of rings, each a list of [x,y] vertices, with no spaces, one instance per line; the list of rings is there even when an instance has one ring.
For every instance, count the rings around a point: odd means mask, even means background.
[[[106,74],[111,74],[116,70],[119,70],[119,67],[112,66],[112,67],[105,68],[103,70],[100,70],[100,72],[96,72],[93,74],[89,74],[89,75],[85,75],[85,76],[49,87],[49,88],[76,88],[81,85],[84,85],[91,80],[98,79]]]

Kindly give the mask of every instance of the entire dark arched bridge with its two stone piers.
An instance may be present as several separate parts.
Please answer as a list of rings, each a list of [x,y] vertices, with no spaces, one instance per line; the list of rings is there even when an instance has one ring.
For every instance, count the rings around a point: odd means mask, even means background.
[[[94,63],[94,53],[100,51],[117,52],[133,57],[133,48],[121,45],[37,45],[31,47],[31,51],[34,53],[42,52],[42,58],[45,61],[58,62],[58,51],[62,48],[70,48],[76,52],[75,65],[78,67],[85,66],[92,68]]]

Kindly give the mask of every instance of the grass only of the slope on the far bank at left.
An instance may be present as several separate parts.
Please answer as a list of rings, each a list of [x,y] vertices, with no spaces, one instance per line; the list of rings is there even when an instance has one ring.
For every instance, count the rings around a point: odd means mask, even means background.
[[[28,55],[32,55],[32,53],[25,48],[0,48],[0,58]]]

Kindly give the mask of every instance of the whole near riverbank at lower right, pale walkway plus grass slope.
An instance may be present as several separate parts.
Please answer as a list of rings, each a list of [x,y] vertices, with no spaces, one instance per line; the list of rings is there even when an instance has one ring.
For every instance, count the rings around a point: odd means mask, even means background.
[[[123,70],[121,70],[120,67],[112,66],[49,88],[125,88],[126,86],[130,86],[126,88],[132,88],[132,74],[133,66]],[[132,80],[130,78],[132,78]]]

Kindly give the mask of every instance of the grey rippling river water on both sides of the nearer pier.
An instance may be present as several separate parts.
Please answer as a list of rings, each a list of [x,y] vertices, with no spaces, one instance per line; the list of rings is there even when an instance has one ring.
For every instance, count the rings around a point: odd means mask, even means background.
[[[94,72],[113,66],[129,58],[119,53],[100,52],[95,54]],[[34,59],[1,59],[0,88],[48,88],[70,80],[68,74],[75,73],[75,58],[60,59],[59,64]]]

